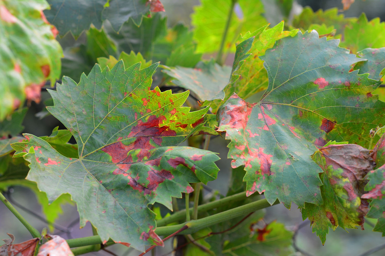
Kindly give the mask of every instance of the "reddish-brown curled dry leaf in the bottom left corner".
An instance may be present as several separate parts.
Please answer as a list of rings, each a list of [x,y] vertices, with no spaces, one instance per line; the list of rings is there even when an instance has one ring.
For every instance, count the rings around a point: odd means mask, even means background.
[[[15,236],[8,234],[11,239],[3,239],[5,244],[0,247],[0,256],[33,256],[39,238],[32,238],[19,244],[13,244]],[[73,254],[72,254],[73,255]]]

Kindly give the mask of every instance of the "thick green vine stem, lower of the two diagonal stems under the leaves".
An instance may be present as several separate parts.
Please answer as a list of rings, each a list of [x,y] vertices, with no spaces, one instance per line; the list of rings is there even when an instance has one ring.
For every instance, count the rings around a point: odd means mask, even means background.
[[[244,194],[244,192],[242,192]],[[217,200],[220,201],[220,200]],[[221,204],[223,201],[221,201]],[[273,205],[278,204],[279,201],[276,200]],[[218,206],[218,205],[217,205]],[[156,233],[159,236],[167,236],[169,234],[175,233],[178,230],[181,230],[186,225],[188,228],[186,230],[183,230],[181,232],[182,235],[184,234],[192,234],[195,233],[198,230],[201,230],[205,227],[212,226],[218,223],[221,223],[226,220],[232,220],[234,218],[238,218],[244,215],[247,215],[253,211],[262,210],[264,208],[270,207],[272,205],[269,204],[269,202],[266,199],[261,199],[258,201],[254,201],[252,203],[248,203],[246,205],[241,205],[236,208],[223,211],[220,213],[216,213],[214,215],[201,218],[199,220],[191,220],[187,221],[182,224],[178,225],[172,225],[172,226],[161,226],[156,228]],[[182,217],[183,218],[183,217]],[[100,236],[89,236],[89,237],[83,237],[83,238],[74,238],[74,239],[68,239],[67,240],[68,245],[70,248],[79,247],[79,246],[86,246],[86,245],[93,245],[93,244],[100,244],[102,243],[102,240],[100,239]],[[113,244],[114,242],[110,239],[107,244]]]

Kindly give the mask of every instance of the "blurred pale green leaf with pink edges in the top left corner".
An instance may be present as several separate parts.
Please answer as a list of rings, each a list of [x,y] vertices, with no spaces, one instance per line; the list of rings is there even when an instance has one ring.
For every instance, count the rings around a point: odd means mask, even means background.
[[[39,102],[45,81],[59,78],[63,53],[45,8],[42,0],[0,3],[0,121],[25,98]]]

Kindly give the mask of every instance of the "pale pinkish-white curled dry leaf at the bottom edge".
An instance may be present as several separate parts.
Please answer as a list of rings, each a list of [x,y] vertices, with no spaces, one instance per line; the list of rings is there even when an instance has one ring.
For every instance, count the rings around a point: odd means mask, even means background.
[[[52,239],[40,246],[37,256],[74,256],[64,238],[57,235],[46,235],[45,237]]]

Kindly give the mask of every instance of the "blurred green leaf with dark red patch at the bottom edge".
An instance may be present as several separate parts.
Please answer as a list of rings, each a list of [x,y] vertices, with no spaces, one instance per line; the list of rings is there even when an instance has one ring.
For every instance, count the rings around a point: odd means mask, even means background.
[[[291,255],[294,253],[292,244],[293,232],[285,229],[282,223],[273,221],[258,227],[251,223],[244,229],[243,236],[230,241],[223,248],[223,255]],[[255,227],[254,227],[255,226]],[[251,233],[250,233],[251,232]]]

